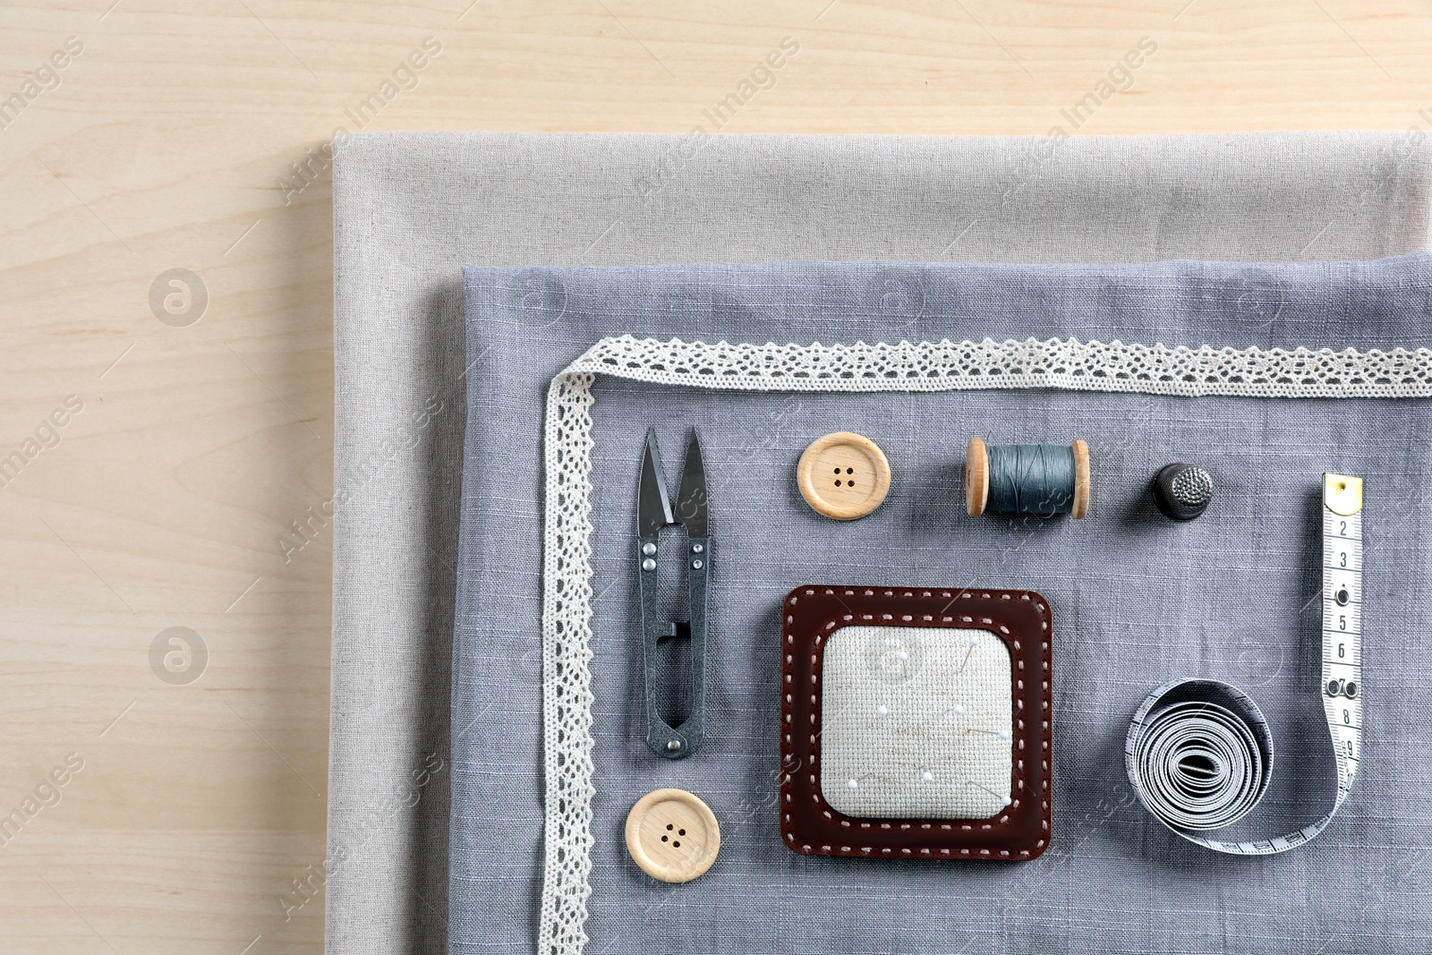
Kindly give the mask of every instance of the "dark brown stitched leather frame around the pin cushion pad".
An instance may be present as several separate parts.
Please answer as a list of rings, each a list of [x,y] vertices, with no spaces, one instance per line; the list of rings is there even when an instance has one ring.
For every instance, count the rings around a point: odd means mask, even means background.
[[[990,819],[856,819],[821,793],[821,664],[848,626],[978,627],[1010,647],[1011,803]],[[1028,590],[796,587],[782,604],[780,835],[800,855],[1008,859],[1041,855],[1051,825],[1050,604]]]

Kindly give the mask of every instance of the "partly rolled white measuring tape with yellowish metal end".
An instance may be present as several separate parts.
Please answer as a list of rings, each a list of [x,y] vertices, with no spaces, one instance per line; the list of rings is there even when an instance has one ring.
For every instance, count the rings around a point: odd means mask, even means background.
[[[1214,852],[1272,855],[1327,828],[1352,790],[1362,750],[1362,478],[1323,475],[1323,682],[1319,693],[1337,759],[1326,815],[1286,836],[1223,842],[1200,835],[1247,815],[1267,790],[1273,737],[1243,690],[1177,680],[1150,693],[1124,740],[1134,792],[1158,822]]]

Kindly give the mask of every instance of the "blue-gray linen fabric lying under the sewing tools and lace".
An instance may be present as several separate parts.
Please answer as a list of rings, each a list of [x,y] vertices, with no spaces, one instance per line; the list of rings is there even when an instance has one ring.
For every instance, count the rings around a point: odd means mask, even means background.
[[[468,269],[468,422],[454,646],[451,951],[528,951],[541,888],[541,431],[547,384],[593,341],[1002,341],[1390,349],[1432,342],[1432,256],[1126,266],[916,263]],[[593,408],[596,798],[590,952],[1421,952],[1432,934],[1432,418],[1422,399],[1170,398],[1048,389],[713,392],[597,378]],[[706,742],[643,743],[636,480],[654,425],[674,475],[702,435],[712,500]],[[800,498],[813,438],[851,430],[894,483],[838,523]],[[1083,437],[1081,521],[964,514],[965,441]],[[494,452],[498,451],[500,452]],[[1190,524],[1150,480],[1216,480]],[[1244,832],[1317,815],[1333,780],[1317,697],[1319,488],[1368,481],[1366,743],[1352,798],[1313,843],[1230,858],[1133,799],[1128,719],[1154,686],[1210,676],[1254,694],[1279,747]],[[1054,613],[1055,835],[1028,863],[803,858],[780,840],[779,607],[802,583],[1028,587]],[[627,809],[660,786],[722,823],[702,879],[642,875]]]

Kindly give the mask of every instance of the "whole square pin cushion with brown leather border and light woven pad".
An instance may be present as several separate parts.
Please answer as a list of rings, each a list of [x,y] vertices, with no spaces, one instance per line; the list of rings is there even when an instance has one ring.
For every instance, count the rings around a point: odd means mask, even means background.
[[[1053,823],[1053,620],[1025,590],[802,586],[782,604],[780,836],[1027,861]]]

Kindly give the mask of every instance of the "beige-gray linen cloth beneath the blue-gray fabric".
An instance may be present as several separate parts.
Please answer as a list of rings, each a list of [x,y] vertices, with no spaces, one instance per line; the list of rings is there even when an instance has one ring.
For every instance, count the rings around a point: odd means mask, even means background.
[[[445,939],[463,263],[1375,258],[1429,173],[1399,133],[335,143],[328,951]]]

